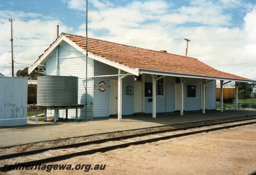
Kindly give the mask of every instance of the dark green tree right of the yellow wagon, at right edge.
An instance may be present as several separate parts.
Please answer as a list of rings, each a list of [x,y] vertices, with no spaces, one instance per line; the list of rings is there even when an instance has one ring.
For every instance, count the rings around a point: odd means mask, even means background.
[[[248,84],[244,82],[236,82],[236,83],[238,85],[238,98],[239,99],[251,98],[251,94],[255,84]]]

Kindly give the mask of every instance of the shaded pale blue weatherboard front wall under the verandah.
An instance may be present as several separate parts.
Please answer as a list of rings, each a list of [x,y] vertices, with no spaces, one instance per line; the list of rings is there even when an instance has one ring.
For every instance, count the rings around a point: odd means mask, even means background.
[[[94,76],[98,75],[111,75],[118,74],[118,69],[105,65],[101,62],[94,61]],[[189,78],[185,78],[185,81]],[[117,80],[116,77],[99,77],[94,78],[94,84],[99,84],[100,81],[104,81],[107,85],[110,85],[111,80]],[[207,80],[206,80],[207,81]],[[152,82],[152,76],[150,74],[144,75],[144,82]],[[184,100],[185,108],[184,110],[201,110],[201,84],[202,79],[191,79],[185,83],[184,88]],[[187,86],[196,86],[196,97],[187,97]],[[126,95],[126,87],[134,86],[134,77],[127,76],[123,79],[123,93],[122,93],[122,114],[132,115],[133,114],[133,95]],[[216,109],[216,81],[207,83],[207,109]],[[101,92],[99,89],[93,89],[93,117],[108,117],[110,115],[110,89],[106,89]],[[175,92],[175,78],[171,76],[165,77],[165,96],[156,97],[156,112],[173,112],[174,111],[174,93]],[[152,113],[152,102],[148,99],[152,97],[144,97],[144,112]]]

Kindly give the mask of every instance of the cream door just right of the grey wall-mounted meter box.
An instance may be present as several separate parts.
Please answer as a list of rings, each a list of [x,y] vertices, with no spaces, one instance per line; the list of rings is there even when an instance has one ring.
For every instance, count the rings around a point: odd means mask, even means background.
[[[134,113],[143,112],[143,82],[134,82]]]

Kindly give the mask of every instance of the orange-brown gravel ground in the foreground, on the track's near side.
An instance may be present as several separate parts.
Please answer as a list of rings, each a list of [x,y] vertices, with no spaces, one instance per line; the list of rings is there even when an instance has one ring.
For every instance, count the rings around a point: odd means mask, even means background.
[[[87,174],[248,174],[256,170],[256,124],[200,133],[49,164],[106,164]],[[84,174],[84,170],[52,170]],[[45,170],[7,174],[45,174]]]

